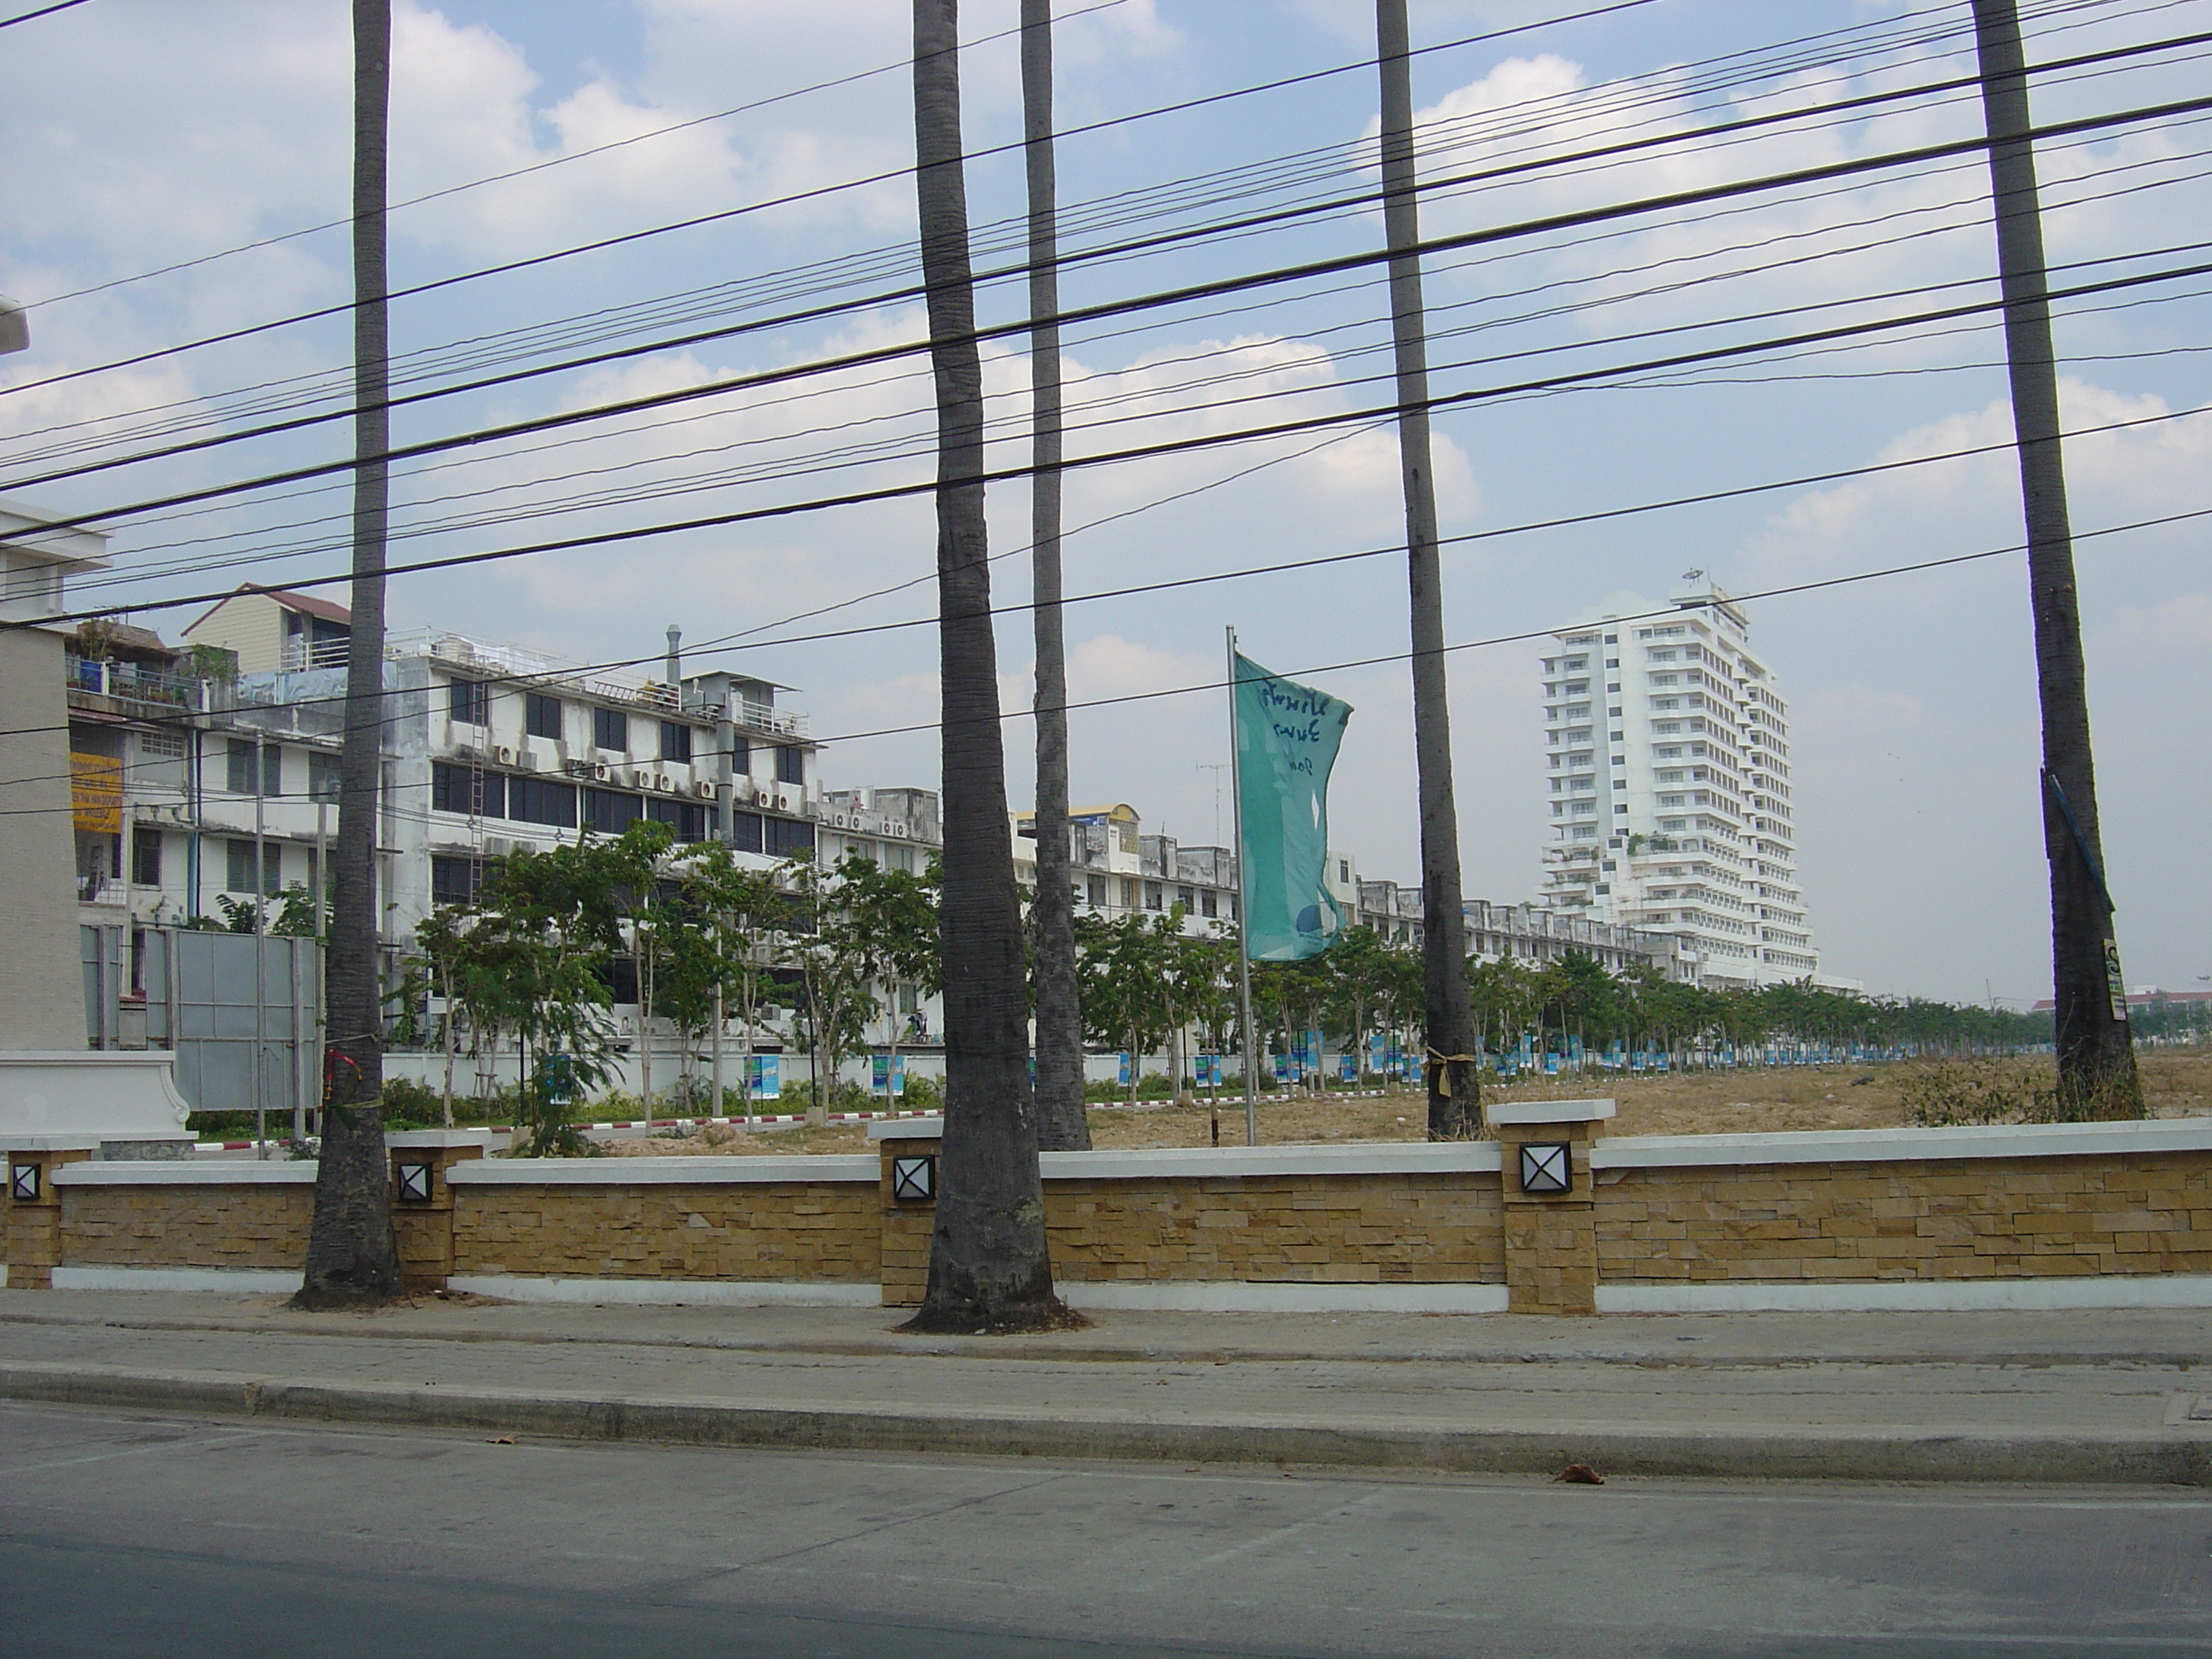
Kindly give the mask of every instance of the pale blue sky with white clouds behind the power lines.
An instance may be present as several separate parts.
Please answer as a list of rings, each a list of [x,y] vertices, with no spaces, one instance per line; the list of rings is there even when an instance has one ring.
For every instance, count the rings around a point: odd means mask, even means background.
[[[1971,73],[1964,0],[1648,0],[1562,22],[1601,4],[1416,0],[1425,234],[1980,131],[1966,88],[1690,137]],[[2022,11],[2037,64],[2212,31],[2212,0]],[[88,0],[0,31],[0,292],[33,305],[33,349],[0,361],[0,493],[115,511],[347,453],[347,422],[325,418],[75,471],[345,409],[343,314],[77,372],[347,301],[347,15],[343,0]],[[1358,201],[1376,184],[1378,108],[1363,0],[1060,0],[1057,15],[1062,246],[1097,252],[1064,272],[1064,307],[1380,243]],[[1013,22],[1013,0],[962,7],[982,272],[1022,257]],[[392,283],[440,283],[392,307],[398,387],[438,394],[396,411],[398,442],[920,338],[900,296],[916,259],[896,0],[396,0],[394,38]],[[2053,71],[2035,115],[2199,97],[2205,53]],[[1237,95],[1287,77],[1303,80]],[[1148,113],[1190,100],[1208,102]],[[1686,137],[1464,177],[1655,135]],[[2053,283],[2205,263],[2208,148],[2205,111],[2046,139]],[[1113,252],[1292,206],[1314,210]],[[626,241],[564,252],[613,237]],[[531,263],[473,274],[515,261]],[[1520,902],[1540,885],[1544,630],[1619,591],[1663,597],[1690,568],[1765,595],[1986,551],[1747,611],[1792,706],[1798,867],[1823,967],[1878,993],[2048,995],[2026,573],[2000,553],[2022,540],[2002,336],[1966,316],[1652,367],[1986,301],[1993,268],[1971,153],[1427,261],[1436,392],[1471,394],[1436,416],[1442,533],[1460,538],[1444,608],[1464,646],[1451,712],[1469,896]],[[2208,283],[2064,299],[2055,319],[2064,420],[2084,429],[2068,489],[2119,942],[2132,984],[2168,989],[2212,975],[2212,520],[2117,526],[2212,509]],[[1024,283],[984,283],[978,307],[1018,323]],[[984,372],[991,465],[1020,467],[1018,334],[987,343]],[[1066,372],[1071,456],[1378,407],[1380,274],[1075,323]],[[927,394],[922,361],[898,356],[405,462],[394,560],[918,484]],[[1962,449],[1980,453],[1893,465]],[[1736,493],[1659,507],[1719,491]],[[345,511],[343,478],[117,511],[113,580],[77,597],[137,606],[135,622],[175,637],[195,611],[161,599],[343,573]],[[989,513],[995,597],[1020,606],[1026,487],[995,484]],[[1077,469],[1066,524],[1071,595],[1152,588],[1068,608],[1071,692],[1099,703],[1073,719],[1075,796],[1128,801],[1186,843],[1225,836],[1225,701],[1179,688],[1219,681],[1234,626],[1250,657],[1354,706],[1332,838],[1365,876],[1416,880],[1394,434],[1369,420]],[[1312,560],[1334,562],[1252,573]],[[936,734],[914,730],[933,712],[933,635],[891,626],[927,622],[931,571],[929,500],[911,495],[403,575],[389,608],[396,630],[436,624],[580,661],[653,657],[675,622],[692,668],[792,688],[785,701],[830,739],[832,787],[933,785]],[[1029,628],[1022,611],[1000,619],[1009,712],[1031,697]],[[1013,717],[1004,730],[1026,805],[1033,728]]]

